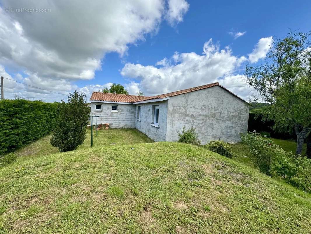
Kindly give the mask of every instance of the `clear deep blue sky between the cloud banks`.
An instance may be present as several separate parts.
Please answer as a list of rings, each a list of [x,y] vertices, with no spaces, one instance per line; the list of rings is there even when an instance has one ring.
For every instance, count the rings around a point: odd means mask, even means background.
[[[124,61],[154,65],[175,51],[202,53],[202,45],[209,39],[219,41],[220,46],[230,46],[235,55],[250,53],[262,37],[285,37],[292,30],[311,30],[310,1],[188,1],[190,7],[183,22],[175,27],[166,22],[160,25],[156,35],[130,46],[128,56],[120,58],[109,53],[102,60],[102,71],[96,71],[95,83],[127,80],[119,70]],[[228,32],[245,32],[234,39]],[[89,81],[78,81],[86,85]]]

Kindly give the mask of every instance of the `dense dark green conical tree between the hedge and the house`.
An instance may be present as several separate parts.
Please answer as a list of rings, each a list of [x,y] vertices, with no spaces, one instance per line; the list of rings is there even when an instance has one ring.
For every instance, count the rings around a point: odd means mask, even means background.
[[[90,115],[83,95],[75,91],[67,103],[62,100],[58,107],[56,126],[50,143],[60,152],[77,149],[86,139],[86,125]]]

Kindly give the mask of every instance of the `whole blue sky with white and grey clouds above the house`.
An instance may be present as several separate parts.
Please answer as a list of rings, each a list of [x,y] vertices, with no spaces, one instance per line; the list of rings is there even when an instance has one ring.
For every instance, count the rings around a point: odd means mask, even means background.
[[[260,65],[274,38],[310,31],[310,11],[311,1],[287,0],[0,0],[4,98],[89,99],[112,83],[151,96],[219,82],[248,100],[245,66]]]

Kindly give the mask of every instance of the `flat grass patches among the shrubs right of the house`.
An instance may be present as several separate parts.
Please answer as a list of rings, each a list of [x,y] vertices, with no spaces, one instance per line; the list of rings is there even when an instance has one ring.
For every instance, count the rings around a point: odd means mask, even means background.
[[[281,139],[276,139],[276,138],[270,138],[275,144],[281,146],[285,151],[288,152],[293,152],[295,154],[296,152],[296,141],[295,140],[281,140]],[[248,166],[254,167],[253,162],[249,159],[249,149],[247,146],[245,146],[243,143],[238,142],[236,144],[231,145],[233,148],[233,151],[237,157],[235,157],[236,160],[238,160],[241,163],[244,163]],[[302,148],[302,155],[306,154],[307,146],[306,144],[303,145]]]

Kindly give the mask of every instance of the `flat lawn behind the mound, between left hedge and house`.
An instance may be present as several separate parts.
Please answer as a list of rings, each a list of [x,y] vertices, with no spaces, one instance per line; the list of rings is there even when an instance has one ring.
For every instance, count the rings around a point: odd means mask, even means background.
[[[56,147],[50,144],[51,135],[45,136],[25,147],[16,150],[18,156],[40,156],[47,154],[59,153]],[[142,134],[137,129],[109,129],[109,130],[98,130],[97,136],[96,131],[93,130],[93,147],[105,146],[110,144],[140,144],[140,143],[151,143],[153,142],[145,134]],[[91,130],[86,131],[86,140],[78,149],[88,149],[91,147]]]

